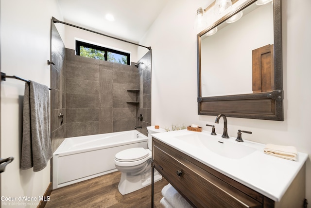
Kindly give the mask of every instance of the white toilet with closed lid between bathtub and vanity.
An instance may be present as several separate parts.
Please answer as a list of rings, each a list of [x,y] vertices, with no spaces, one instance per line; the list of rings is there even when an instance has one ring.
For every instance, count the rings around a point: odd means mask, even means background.
[[[152,133],[166,132],[164,129],[155,129],[148,126],[148,149],[131,148],[118,152],[115,155],[116,169],[121,171],[119,192],[122,195],[131,193],[151,184],[151,156]],[[154,182],[162,179],[158,171],[154,171]]]

